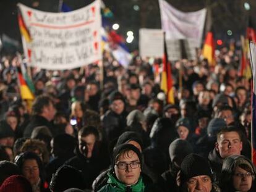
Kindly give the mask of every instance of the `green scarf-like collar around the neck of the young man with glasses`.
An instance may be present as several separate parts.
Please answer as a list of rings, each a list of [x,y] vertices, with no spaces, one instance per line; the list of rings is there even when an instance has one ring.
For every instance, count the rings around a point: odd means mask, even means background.
[[[123,191],[126,191],[127,185],[124,183],[119,182],[116,177],[112,173],[108,173],[108,183],[115,185],[117,188],[120,188]],[[132,192],[143,192],[145,190],[145,185],[142,182],[142,177],[139,178],[138,182],[135,185],[131,185],[130,189]]]

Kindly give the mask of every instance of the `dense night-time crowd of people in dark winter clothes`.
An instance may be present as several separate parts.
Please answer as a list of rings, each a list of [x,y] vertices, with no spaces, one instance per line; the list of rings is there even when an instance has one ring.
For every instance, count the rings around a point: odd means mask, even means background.
[[[28,67],[32,102],[17,67],[0,67],[1,191],[255,191],[250,77],[223,47],[211,66],[171,62],[174,104],[161,90],[162,61],[134,52],[129,65]],[[160,69],[157,71],[156,69]]]

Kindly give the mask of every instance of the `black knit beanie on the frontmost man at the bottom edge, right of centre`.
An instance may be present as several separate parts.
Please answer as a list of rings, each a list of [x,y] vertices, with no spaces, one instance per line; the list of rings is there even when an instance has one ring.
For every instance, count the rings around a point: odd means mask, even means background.
[[[189,154],[181,163],[181,184],[199,175],[207,175],[213,181],[213,172],[207,159],[194,153]]]

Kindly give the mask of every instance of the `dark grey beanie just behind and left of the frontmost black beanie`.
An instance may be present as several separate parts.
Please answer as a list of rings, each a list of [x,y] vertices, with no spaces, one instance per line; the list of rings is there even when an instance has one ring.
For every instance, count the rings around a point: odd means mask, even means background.
[[[182,162],[184,157],[192,152],[193,148],[186,140],[176,139],[169,146],[169,156],[171,158],[171,162],[173,162],[175,159],[179,159]]]

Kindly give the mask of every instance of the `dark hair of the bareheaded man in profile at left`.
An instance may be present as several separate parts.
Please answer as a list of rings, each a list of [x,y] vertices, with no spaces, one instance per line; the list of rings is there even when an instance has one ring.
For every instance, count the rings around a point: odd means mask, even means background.
[[[36,97],[32,106],[32,114],[33,115],[41,114],[43,112],[43,107],[49,106],[51,103],[53,104],[51,97],[46,94],[42,94]]]

